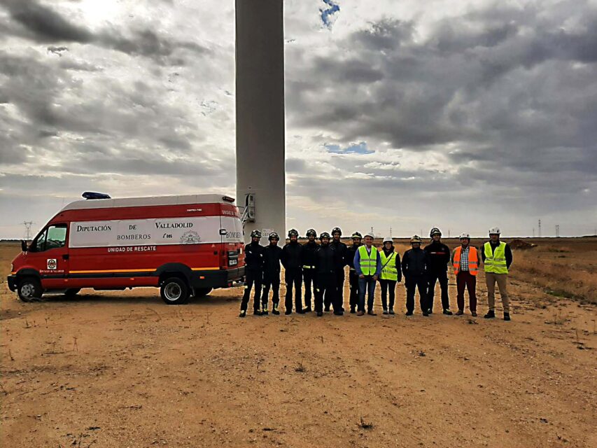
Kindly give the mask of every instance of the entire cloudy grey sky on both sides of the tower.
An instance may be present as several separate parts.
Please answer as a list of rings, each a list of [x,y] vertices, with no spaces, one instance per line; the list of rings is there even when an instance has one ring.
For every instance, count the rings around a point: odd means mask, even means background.
[[[587,235],[597,1],[286,0],[287,225]],[[0,237],[234,195],[233,0],[0,0]]]

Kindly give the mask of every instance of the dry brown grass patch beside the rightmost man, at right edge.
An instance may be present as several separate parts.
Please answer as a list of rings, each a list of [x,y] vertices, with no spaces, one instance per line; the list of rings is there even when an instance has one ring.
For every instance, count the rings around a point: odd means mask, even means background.
[[[545,288],[547,293],[597,304],[594,265],[570,255],[570,249],[545,247],[514,252],[515,278]],[[566,255],[554,257],[554,253]]]

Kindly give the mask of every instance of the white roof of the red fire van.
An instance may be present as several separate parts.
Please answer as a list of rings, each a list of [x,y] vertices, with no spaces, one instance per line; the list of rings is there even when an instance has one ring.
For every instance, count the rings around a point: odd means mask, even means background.
[[[182,196],[148,196],[148,197],[120,197],[115,199],[78,200],[67,204],[65,210],[80,209],[111,209],[113,207],[150,207],[154,205],[181,204],[234,204],[224,200],[226,195],[182,195]],[[230,198],[232,199],[232,198]]]

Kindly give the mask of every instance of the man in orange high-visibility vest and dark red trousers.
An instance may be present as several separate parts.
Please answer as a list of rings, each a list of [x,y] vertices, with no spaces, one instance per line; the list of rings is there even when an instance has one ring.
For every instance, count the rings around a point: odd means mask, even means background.
[[[456,316],[464,314],[464,288],[468,290],[470,314],[477,317],[477,274],[479,273],[479,253],[477,248],[470,246],[470,235],[461,233],[461,245],[452,253],[452,266],[456,276],[456,303],[458,311]]]

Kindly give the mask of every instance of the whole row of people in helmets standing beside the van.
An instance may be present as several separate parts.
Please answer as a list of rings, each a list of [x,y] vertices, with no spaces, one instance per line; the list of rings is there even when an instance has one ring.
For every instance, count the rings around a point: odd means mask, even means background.
[[[477,249],[470,246],[470,235],[460,235],[461,245],[450,251],[442,243],[442,232],[438,228],[430,231],[431,242],[424,248],[418,235],[410,239],[412,248],[400,254],[395,251],[393,239],[386,237],[381,250],[373,245],[374,235],[363,237],[359,232],[351,236],[353,244],[346,246],[340,238],[342,230],[334,228],[332,236],[328,232],[319,235],[307,230],[307,243],[300,244],[295,229],[288,232],[288,244],[278,246],[279,236],[272,232],[269,245],[261,246],[261,232],[251,232],[251,243],[245,246],[246,281],[241,302],[240,317],[246,316],[251,290],[255,288],[253,314],[269,314],[269,290],[272,290],[272,313],[280,314],[279,289],[281,265],[285,269],[286,297],[284,314],[299,314],[316,311],[323,316],[323,311],[330,311],[337,316],[344,314],[344,267],[349,266],[350,312],[358,316],[366,312],[375,316],[374,294],[377,283],[381,287],[381,307],[383,314],[395,314],[396,284],[405,279],[407,290],[407,316],[414,313],[414,297],[419,292],[419,305],[423,316],[433,312],[435,284],[439,281],[443,313],[451,316],[448,295],[448,266],[454,269],[458,311],[464,314],[464,293],[468,290],[469,309],[472,316],[477,316],[476,281],[479,266],[484,265],[489,311],[485,318],[495,314],[496,283],[503,302],[504,320],[510,321],[510,306],[507,295],[506,279],[512,264],[510,246],[500,241],[500,229],[489,230],[489,241]],[[304,306],[302,285],[304,283]],[[314,292],[312,291],[314,290]],[[314,298],[312,302],[312,298]],[[365,298],[366,303],[365,303]]]

